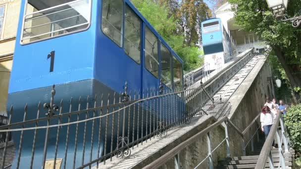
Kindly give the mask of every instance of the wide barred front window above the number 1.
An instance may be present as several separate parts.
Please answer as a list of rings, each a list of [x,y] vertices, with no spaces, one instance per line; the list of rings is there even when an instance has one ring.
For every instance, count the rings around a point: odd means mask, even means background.
[[[28,0],[22,43],[85,30],[90,24],[91,0]]]

